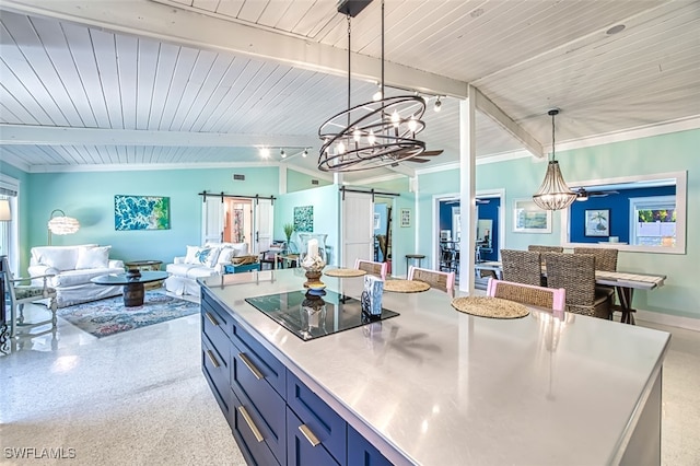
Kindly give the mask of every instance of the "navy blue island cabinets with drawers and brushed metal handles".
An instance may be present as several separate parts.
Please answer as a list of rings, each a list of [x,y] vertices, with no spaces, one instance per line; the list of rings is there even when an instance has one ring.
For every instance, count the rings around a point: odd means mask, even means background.
[[[235,319],[201,295],[202,372],[250,464],[388,465]]]

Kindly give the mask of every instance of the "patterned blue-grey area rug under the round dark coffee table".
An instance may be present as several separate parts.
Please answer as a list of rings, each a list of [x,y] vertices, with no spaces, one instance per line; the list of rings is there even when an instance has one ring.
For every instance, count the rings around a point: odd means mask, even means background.
[[[199,312],[199,304],[147,291],[143,305],[125,307],[121,295],[58,310],[58,316],[97,338],[184,317]]]

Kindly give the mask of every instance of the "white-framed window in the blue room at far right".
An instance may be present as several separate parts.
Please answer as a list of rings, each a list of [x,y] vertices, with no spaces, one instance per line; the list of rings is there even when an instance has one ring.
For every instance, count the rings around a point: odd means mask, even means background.
[[[630,199],[630,244],[676,245],[676,196]]]

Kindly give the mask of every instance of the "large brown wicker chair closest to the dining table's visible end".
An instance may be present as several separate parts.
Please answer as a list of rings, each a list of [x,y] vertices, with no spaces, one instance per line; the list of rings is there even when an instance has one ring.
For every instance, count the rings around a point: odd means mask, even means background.
[[[610,318],[614,293],[596,289],[595,256],[546,253],[547,286],[567,290],[567,311]]]

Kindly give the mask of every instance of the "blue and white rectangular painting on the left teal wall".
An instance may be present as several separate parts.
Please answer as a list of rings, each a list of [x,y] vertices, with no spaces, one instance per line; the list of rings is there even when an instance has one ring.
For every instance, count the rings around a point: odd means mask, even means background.
[[[170,230],[171,198],[161,196],[115,196],[114,228],[117,231]]]

